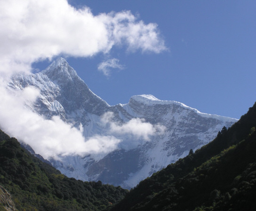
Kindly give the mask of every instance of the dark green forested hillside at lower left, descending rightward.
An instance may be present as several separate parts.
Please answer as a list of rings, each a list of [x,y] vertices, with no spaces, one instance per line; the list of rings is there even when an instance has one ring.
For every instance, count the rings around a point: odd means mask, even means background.
[[[128,192],[100,181],[67,178],[1,130],[0,185],[12,195],[19,211],[101,211]]]

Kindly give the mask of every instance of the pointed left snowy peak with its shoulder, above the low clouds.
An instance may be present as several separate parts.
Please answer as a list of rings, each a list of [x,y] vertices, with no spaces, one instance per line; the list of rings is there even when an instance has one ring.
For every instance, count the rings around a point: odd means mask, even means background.
[[[62,119],[68,120],[74,114],[78,114],[80,117],[76,119],[79,121],[88,113],[101,115],[109,106],[91,92],[63,58],[54,61],[40,73],[13,76],[9,86],[14,89],[26,86],[38,88],[41,94],[35,108],[38,113],[48,118],[59,115]]]

